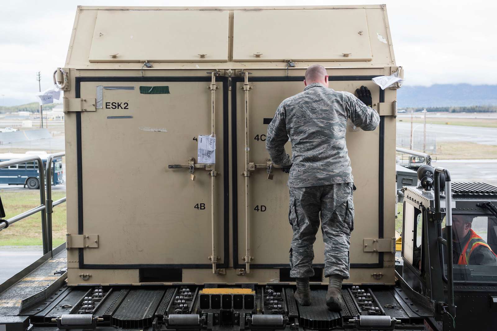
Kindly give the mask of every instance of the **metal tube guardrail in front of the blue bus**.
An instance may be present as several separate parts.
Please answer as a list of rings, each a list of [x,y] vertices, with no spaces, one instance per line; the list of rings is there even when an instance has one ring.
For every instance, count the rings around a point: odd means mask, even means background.
[[[41,235],[43,242],[43,254],[47,254],[52,251],[52,213],[53,207],[60,205],[66,202],[66,197],[52,201],[52,161],[54,158],[65,156],[65,152],[50,154],[47,158],[47,169],[46,172],[43,168],[43,161],[39,156],[26,157],[22,159],[14,159],[9,161],[0,162],[0,168],[10,166],[10,165],[18,165],[26,162],[36,161],[38,163],[39,174],[39,184],[40,184],[40,205],[25,211],[19,215],[11,217],[8,220],[1,220],[0,222],[0,231],[9,225],[25,219],[31,215],[34,215],[38,212],[41,212]],[[46,186],[46,196],[45,196],[45,174],[47,179]],[[45,198],[46,197],[46,198]]]

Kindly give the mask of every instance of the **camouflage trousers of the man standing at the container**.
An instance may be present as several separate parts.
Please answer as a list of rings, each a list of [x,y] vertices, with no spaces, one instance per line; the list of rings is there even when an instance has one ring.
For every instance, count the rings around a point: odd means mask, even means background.
[[[354,228],[352,185],[290,187],[291,277],[314,276],[313,244],[320,221],[325,243],[325,276],[349,277],[350,232]]]

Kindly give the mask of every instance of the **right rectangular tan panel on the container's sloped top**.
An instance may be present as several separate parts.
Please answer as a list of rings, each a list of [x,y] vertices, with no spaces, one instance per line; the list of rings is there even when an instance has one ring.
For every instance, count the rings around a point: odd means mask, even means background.
[[[370,61],[366,12],[235,10],[234,61]]]

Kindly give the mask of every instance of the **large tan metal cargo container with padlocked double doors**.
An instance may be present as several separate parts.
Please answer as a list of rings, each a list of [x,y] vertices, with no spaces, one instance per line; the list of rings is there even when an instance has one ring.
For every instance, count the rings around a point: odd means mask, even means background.
[[[57,73],[68,283],[292,281],[288,175],[265,138],[313,63],[335,90],[367,86],[381,115],[375,131],[347,127],[357,190],[346,282],[392,284],[396,90],[371,81],[399,70],[384,5],[78,7]],[[215,136],[215,164],[199,162],[200,135]],[[321,231],[314,249],[324,282]]]

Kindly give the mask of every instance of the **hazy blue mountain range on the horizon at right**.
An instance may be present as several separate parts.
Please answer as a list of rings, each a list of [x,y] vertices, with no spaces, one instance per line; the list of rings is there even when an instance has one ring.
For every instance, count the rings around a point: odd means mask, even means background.
[[[405,85],[397,91],[399,109],[497,105],[497,85],[434,84]]]

